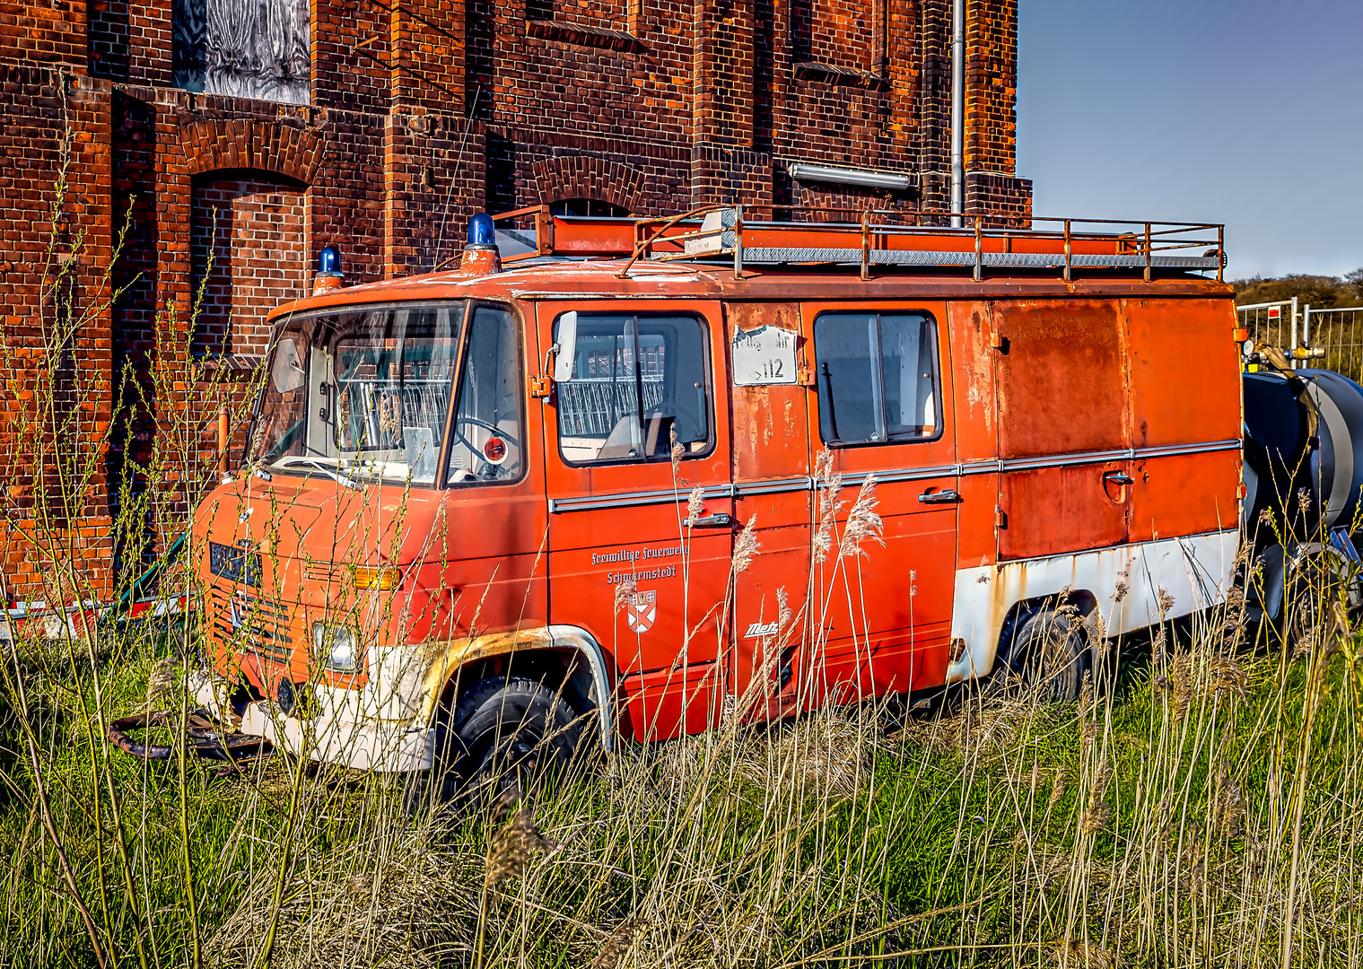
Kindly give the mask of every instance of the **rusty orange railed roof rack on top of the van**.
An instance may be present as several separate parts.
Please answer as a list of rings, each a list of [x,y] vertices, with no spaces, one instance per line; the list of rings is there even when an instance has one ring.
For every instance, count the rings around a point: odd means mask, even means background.
[[[1212,222],[1032,217],[1022,229],[998,215],[954,217],[953,226],[953,215],[940,211],[800,211],[808,218],[746,218],[741,204],[701,206],[671,218],[598,218],[533,206],[492,218],[502,224],[496,234],[504,263],[628,256],[622,278],[639,260],[677,259],[732,259],[736,275],[746,264],[860,266],[863,279],[876,266],[913,266],[972,268],[976,279],[987,268],[1052,268],[1066,281],[1089,268],[1139,271],[1146,281],[1154,270],[1216,270],[1221,282],[1225,268],[1225,226]]]

